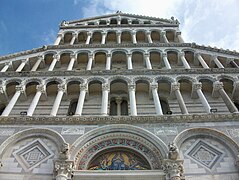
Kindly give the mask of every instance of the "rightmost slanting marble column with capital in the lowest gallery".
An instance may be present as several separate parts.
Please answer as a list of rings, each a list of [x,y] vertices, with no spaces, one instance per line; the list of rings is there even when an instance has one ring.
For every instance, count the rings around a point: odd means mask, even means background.
[[[228,110],[231,113],[235,113],[238,112],[235,104],[232,102],[232,100],[230,99],[230,97],[227,95],[227,93],[225,92],[225,90],[223,89],[223,83],[222,82],[214,82],[213,83],[213,91],[218,91],[222,100],[224,101],[224,103],[226,104]]]

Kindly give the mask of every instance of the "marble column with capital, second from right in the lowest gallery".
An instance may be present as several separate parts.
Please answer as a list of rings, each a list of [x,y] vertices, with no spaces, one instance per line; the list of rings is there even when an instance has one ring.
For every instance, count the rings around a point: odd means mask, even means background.
[[[203,92],[202,92],[202,83],[194,83],[193,84],[193,87],[192,87],[193,91],[196,91],[197,92],[197,95],[203,105],[203,108],[204,110],[207,112],[207,113],[211,113],[210,110],[211,110],[211,106],[209,105],[206,97],[204,96]]]

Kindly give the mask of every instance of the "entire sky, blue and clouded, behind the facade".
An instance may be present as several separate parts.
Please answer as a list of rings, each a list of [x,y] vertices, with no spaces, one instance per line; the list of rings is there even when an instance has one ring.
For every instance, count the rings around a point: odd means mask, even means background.
[[[174,16],[187,42],[239,51],[239,0],[0,0],[0,55],[53,44],[62,20],[117,10]]]

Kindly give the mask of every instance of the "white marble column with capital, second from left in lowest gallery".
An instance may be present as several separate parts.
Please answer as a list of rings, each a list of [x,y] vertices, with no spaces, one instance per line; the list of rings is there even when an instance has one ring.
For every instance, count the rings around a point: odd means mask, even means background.
[[[46,92],[46,86],[45,85],[37,85],[36,89],[37,89],[36,94],[35,94],[32,102],[31,102],[31,104],[30,104],[30,106],[27,110],[27,116],[32,116],[33,115],[42,93]]]

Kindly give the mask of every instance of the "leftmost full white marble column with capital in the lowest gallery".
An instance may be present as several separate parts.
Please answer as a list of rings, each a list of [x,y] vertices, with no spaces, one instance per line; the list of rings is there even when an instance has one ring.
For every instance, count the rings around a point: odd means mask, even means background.
[[[11,113],[11,111],[12,111],[13,107],[15,106],[18,98],[23,93],[25,93],[25,86],[17,85],[16,86],[16,92],[13,95],[13,97],[11,98],[11,100],[9,101],[9,103],[6,106],[6,108],[4,109],[4,111],[2,112],[2,116],[8,116]]]

